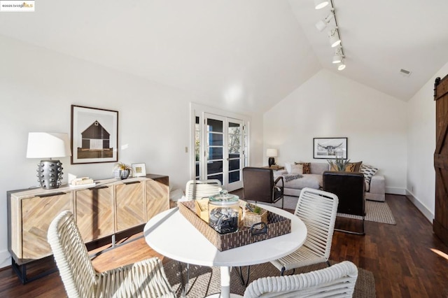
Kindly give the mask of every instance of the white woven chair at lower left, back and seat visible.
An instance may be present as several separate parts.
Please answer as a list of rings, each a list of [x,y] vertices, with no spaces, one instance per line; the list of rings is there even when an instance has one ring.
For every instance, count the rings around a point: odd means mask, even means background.
[[[48,242],[68,297],[176,297],[157,257],[95,271],[70,211],[52,220]]]

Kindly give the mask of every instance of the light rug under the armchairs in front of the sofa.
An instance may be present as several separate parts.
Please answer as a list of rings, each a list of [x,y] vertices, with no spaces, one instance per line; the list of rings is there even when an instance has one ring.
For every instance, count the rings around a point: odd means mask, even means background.
[[[283,202],[283,208],[295,210],[299,197],[285,196]],[[266,204],[266,203],[259,203]],[[275,204],[266,204],[269,206],[275,206],[281,208],[281,201],[277,201]],[[362,219],[358,215],[350,215],[337,213],[337,216],[344,218]],[[395,225],[395,218],[393,218],[391,208],[389,208],[386,201],[365,201],[365,220],[370,222],[381,222],[389,225]]]

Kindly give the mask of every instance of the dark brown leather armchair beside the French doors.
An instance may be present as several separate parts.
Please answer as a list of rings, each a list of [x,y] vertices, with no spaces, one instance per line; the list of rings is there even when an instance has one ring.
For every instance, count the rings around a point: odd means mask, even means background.
[[[274,171],[268,168],[246,166],[243,169],[244,199],[275,203],[281,199],[283,209],[283,176],[274,181]]]

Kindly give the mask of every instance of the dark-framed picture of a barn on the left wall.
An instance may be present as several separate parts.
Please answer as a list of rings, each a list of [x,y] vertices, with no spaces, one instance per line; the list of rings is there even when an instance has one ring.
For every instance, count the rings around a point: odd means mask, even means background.
[[[118,111],[71,105],[71,164],[118,162]]]

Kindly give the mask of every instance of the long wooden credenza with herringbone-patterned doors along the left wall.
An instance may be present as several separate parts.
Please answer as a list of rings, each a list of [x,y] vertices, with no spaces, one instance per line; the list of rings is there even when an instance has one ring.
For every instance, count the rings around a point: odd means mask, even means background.
[[[47,242],[50,222],[69,210],[85,243],[144,225],[169,208],[169,177],[148,174],[125,180],[97,180],[95,187],[8,191],[8,250],[13,265],[52,255]],[[22,281],[23,282],[23,281]]]

